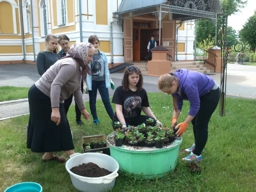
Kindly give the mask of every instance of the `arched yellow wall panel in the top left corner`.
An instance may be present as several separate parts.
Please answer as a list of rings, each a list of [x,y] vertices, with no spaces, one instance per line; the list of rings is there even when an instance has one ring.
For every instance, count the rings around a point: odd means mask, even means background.
[[[13,12],[10,3],[0,3],[0,33],[13,34]]]

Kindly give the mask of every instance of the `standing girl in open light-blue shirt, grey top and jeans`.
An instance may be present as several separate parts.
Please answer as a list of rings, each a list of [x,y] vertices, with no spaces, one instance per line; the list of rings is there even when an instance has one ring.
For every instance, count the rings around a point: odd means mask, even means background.
[[[105,109],[109,115],[109,118],[112,120],[114,112],[110,104],[108,88],[114,90],[115,84],[111,80],[109,74],[107,56],[104,52],[98,49],[100,44],[99,38],[96,35],[91,35],[88,42],[95,47],[93,61],[91,61],[89,65],[90,68],[92,68],[92,76],[87,76],[86,83],[90,99],[90,110],[93,116],[93,124],[97,125],[100,122],[96,111],[97,91],[99,90]]]

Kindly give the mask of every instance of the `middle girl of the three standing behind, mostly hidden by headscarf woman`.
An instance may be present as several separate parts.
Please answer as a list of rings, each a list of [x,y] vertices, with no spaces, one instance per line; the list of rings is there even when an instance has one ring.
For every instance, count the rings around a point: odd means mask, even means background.
[[[60,35],[58,36],[58,44],[61,46],[61,51],[58,52],[58,54],[61,56],[61,58],[67,56],[67,53],[69,51],[69,38],[67,35]],[[81,79],[81,91],[83,93],[83,77]],[[64,100],[63,107],[65,110],[65,113],[67,115],[68,109],[72,103],[73,100],[73,94],[68,97],[68,99]],[[84,125],[84,123],[81,121],[81,111],[77,106],[76,99],[75,99],[75,110],[76,110],[76,124],[77,125]]]

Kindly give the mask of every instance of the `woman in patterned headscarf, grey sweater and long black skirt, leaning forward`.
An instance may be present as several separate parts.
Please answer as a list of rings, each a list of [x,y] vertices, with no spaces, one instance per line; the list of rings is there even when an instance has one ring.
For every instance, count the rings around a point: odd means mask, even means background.
[[[65,159],[54,156],[56,151],[64,151],[67,156],[74,154],[72,134],[63,109],[63,100],[74,93],[77,106],[86,120],[86,111],[81,92],[81,76],[92,74],[88,64],[92,61],[94,47],[88,43],[72,45],[67,56],[56,61],[28,92],[29,124],[27,147],[32,152],[42,153],[43,161]]]

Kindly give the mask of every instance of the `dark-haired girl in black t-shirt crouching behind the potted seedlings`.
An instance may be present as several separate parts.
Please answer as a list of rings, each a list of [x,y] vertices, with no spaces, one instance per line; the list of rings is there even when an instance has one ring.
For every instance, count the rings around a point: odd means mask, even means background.
[[[139,67],[130,66],[125,69],[122,86],[116,88],[112,102],[116,104],[115,122],[122,124],[122,129],[128,125],[137,126],[145,123],[148,118],[154,119],[154,124],[162,127],[148,104],[148,96],[143,86],[143,76]],[[141,110],[146,115],[141,115]]]

